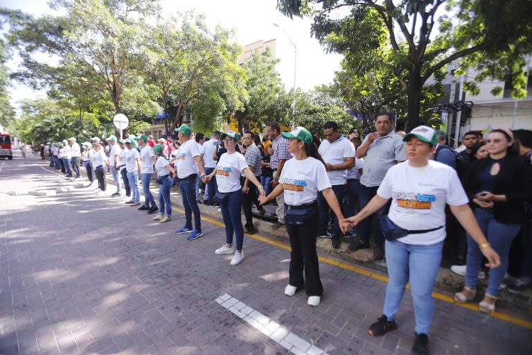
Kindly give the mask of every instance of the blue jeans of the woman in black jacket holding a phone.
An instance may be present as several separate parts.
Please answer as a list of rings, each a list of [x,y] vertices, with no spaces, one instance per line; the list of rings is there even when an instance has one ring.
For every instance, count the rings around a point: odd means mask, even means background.
[[[490,270],[490,279],[488,280],[488,295],[497,296],[501,288],[506,268],[508,268],[508,252],[513,239],[517,236],[521,225],[500,223],[493,218],[493,211],[490,209],[475,208],[475,218],[479,223],[482,233],[491,244],[491,248],[499,254],[501,265],[498,268]],[[465,269],[465,286],[468,288],[477,287],[477,276],[482,265],[482,253],[479,245],[468,233],[468,257],[466,259],[467,268]]]

